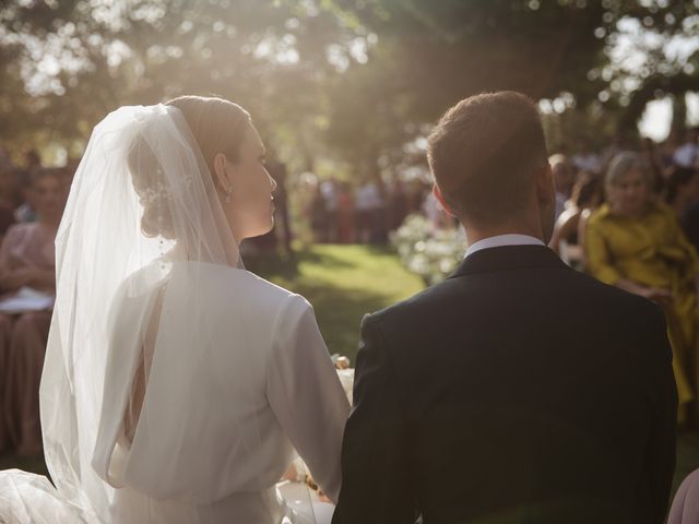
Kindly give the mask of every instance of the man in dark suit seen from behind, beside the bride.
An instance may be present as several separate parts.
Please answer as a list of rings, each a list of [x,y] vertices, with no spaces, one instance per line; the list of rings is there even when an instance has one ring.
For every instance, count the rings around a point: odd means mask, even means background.
[[[333,524],[663,522],[665,321],[546,248],[546,158],[513,92],[462,100],[431,133],[435,195],[470,247],[448,279],[364,319]]]

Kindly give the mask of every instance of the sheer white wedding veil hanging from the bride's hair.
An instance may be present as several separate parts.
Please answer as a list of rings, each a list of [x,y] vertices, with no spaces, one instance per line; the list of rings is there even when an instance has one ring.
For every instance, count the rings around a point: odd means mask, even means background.
[[[40,386],[46,462],[61,495],[103,516],[119,485],[117,432],[138,418],[129,409],[134,380],[147,376],[143,349],[153,346],[146,340],[153,330],[144,324],[159,314],[173,264],[239,263],[179,109],[122,107],[94,129],[56,248],[57,300]],[[191,297],[194,329],[202,300]],[[114,333],[125,314],[131,332]]]

